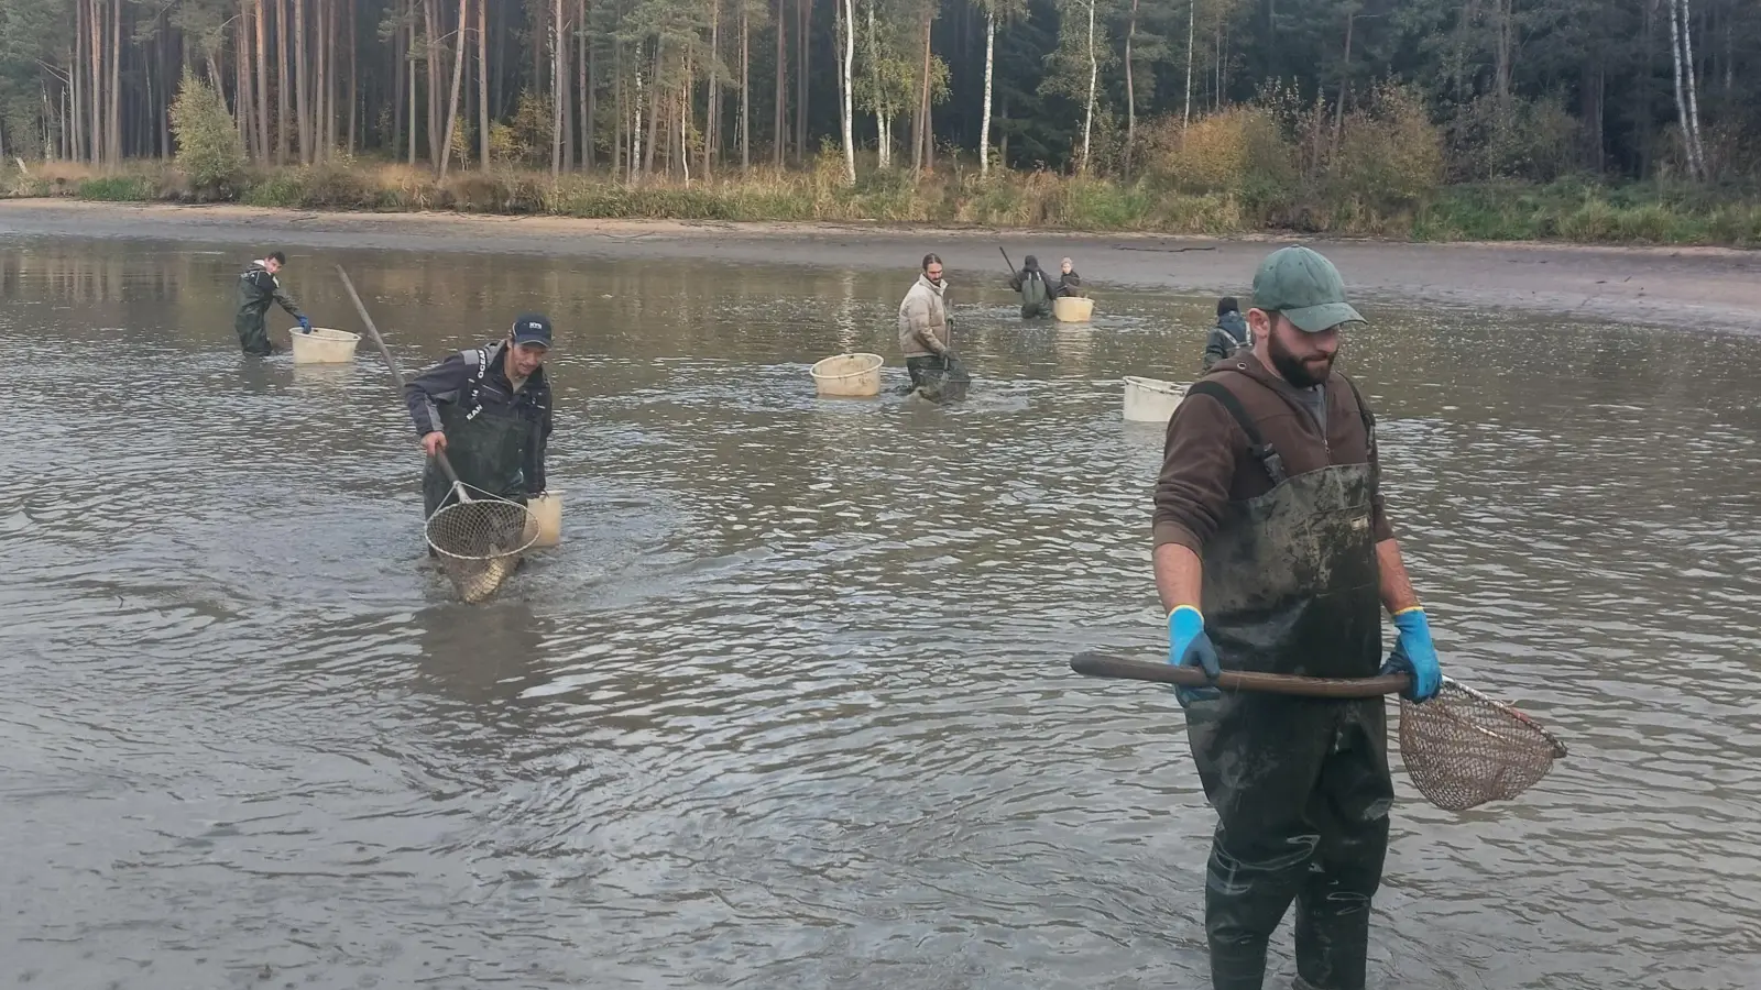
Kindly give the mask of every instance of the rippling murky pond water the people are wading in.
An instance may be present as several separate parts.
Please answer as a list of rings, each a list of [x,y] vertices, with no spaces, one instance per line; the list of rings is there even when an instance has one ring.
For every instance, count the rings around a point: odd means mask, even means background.
[[[0,981],[1203,985],[1180,708],[1065,662],[1159,638],[1118,379],[1208,299],[1021,328],[954,270],[981,382],[921,410],[805,375],[896,352],[909,259],[296,255],[412,366],[560,328],[567,541],[467,608],[380,365],[238,356],[247,259],[0,243]],[[1761,340],[1367,312],[1446,662],[1573,747],[1462,816],[1396,775],[1372,983],[1754,986]]]

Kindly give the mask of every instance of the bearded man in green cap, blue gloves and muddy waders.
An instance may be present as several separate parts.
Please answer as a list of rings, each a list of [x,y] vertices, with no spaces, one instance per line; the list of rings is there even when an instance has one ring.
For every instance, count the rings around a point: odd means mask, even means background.
[[[1250,347],[1192,384],[1155,484],[1155,585],[1168,662],[1324,678],[1412,675],[1437,650],[1382,513],[1375,421],[1333,370],[1363,322],[1319,254],[1273,252],[1254,275]],[[1381,659],[1381,615],[1398,645]],[[1180,689],[1217,810],[1205,883],[1215,990],[1259,990],[1266,941],[1296,902],[1296,986],[1361,990],[1370,898],[1388,853],[1381,698],[1331,701]]]

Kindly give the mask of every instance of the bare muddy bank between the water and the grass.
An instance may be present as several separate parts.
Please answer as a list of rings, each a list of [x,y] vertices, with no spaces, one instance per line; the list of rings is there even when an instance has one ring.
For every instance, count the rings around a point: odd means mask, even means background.
[[[697,257],[734,264],[912,270],[937,252],[958,285],[1020,259],[1072,255],[1090,284],[1247,294],[1256,262],[1305,238],[1164,238],[836,224],[692,224],[458,213],[319,213],[250,206],[0,201],[4,236],[88,236],[578,257]],[[1720,331],[1761,329],[1761,254],[1729,248],[1412,245],[1305,240],[1365,298],[1514,307]]]

